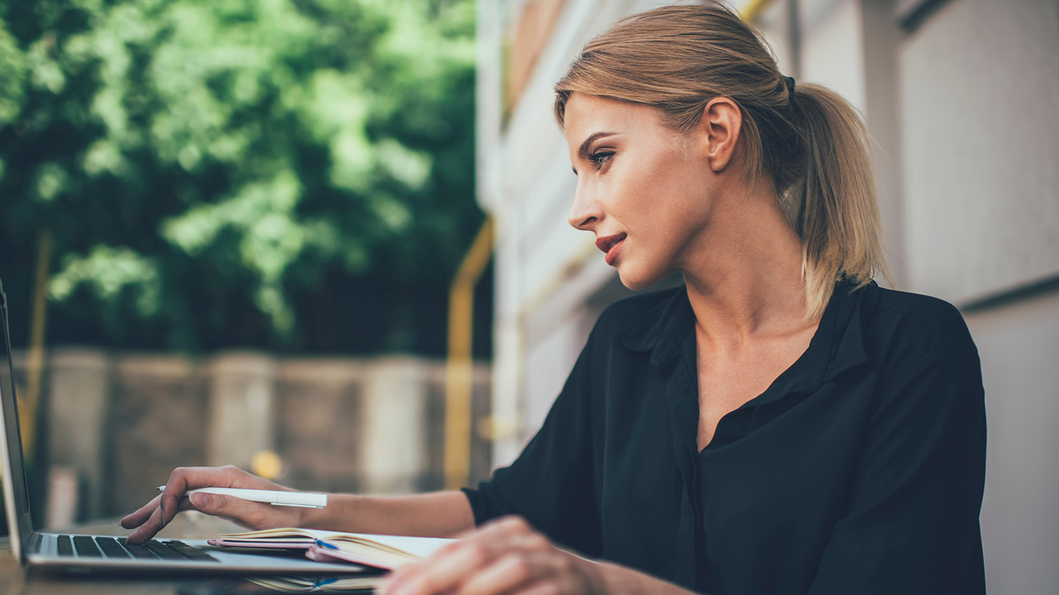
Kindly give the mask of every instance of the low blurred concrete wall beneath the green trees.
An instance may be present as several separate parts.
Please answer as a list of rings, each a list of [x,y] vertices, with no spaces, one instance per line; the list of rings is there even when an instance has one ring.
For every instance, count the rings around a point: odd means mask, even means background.
[[[24,394],[24,358],[14,359]],[[489,382],[488,366],[477,364],[477,426],[489,416]],[[69,494],[52,494],[62,503],[53,508],[73,516],[57,523],[126,513],[175,467],[251,469],[262,451],[280,456],[276,480],[300,489],[408,493],[444,484],[444,362],[56,348],[43,386],[30,483],[38,510],[49,469],[76,488],[72,506]],[[471,456],[470,481],[488,476],[489,441],[479,433]]]

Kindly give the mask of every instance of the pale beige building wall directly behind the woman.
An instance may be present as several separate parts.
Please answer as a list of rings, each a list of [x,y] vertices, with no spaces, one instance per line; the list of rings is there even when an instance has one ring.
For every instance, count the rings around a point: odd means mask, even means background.
[[[899,288],[963,308],[979,344],[988,589],[1059,593],[1059,3],[797,0],[792,19],[790,2],[768,3],[758,25],[785,72],[864,113]],[[566,223],[574,179],[551,86],[593,33],[658,3],[568,0],[506,128],[490,115],[499,95],[480,90],[480,198],[502,229],[493,405],[517,429],[497,440],[498,464],[536,431],[602,305],[624,294]],[[481,48],[480,73],[498,76],[500,47]]]

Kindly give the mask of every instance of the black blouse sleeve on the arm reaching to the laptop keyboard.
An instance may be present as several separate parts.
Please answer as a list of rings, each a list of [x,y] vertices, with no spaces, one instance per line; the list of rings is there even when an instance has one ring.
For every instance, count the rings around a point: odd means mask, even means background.
[[[477,490],[464,488],[475,524],[519,515],[553,541],[598,555],[590,419],[592,342],[590,337],[543,426],[519,457]]]

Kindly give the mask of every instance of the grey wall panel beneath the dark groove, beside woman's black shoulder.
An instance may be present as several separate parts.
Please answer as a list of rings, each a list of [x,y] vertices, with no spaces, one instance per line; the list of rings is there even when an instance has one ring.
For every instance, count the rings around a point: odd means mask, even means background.
[[[1059,593],[1059,291],[965,313],[989,447],[982,534],[991,593]]]

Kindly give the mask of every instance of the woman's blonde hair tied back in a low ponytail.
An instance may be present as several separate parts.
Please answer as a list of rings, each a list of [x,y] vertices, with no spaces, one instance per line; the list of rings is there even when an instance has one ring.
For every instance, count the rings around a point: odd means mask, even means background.
[[[806,315],[823,314],[843,276],[858,288],[877,274],[891,281],[860,114],[819,85],[789,87],[766,43],[725,6],[707,0],[626,17],[585,47],[555,91],[560,126],[577,91],[653,107],[679,134],[711,100],[730,97],[742,113],[749,178],[771,179],[802,240]]]

